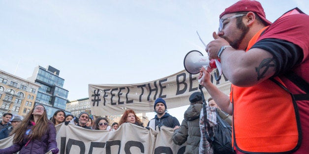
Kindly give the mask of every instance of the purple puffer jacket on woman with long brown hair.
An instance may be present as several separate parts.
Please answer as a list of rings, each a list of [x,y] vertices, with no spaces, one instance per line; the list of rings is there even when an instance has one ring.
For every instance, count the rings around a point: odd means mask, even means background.
[[[32,128],[30,123],[27,130]],[[26,131],[27,131],[26,130]],[[27,133],[27,132],[26,132]],[[1,149],[0,154],[14,154],[19,151],[19,154],[45,154],[51,149],[57,148],[56,142],[56,128],[53,123],[48,122],[47,132],[42,136],[41,140],[35,139],[29,141],[27,135],[25,134],[22,143],[16,143],[12,146]]]

